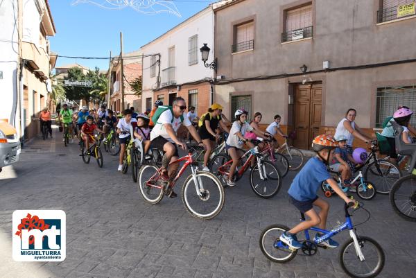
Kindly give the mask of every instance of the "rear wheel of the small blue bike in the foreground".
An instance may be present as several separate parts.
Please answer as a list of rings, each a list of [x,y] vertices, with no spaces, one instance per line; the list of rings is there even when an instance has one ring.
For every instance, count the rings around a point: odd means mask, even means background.
[[[284,225],[270,225],[263,229],[260,235],[260,250],[266,258],[275,263],[286,263],[295,258],[297,250],[289,249],[286,243],[279,239],[281,234],[288,231],[289,228]]]

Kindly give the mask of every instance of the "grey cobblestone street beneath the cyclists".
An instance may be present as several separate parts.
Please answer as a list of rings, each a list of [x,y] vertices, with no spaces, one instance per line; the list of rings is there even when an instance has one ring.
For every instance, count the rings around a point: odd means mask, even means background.
[[[272,263],[261,253],[264,227],[291,226],[299,219],[286,199],[295,173],[284,178],[282,189],[269,200],[255,196],[243,177],[235,188],[225,189],[225,206],[216,218],[198,220],[187,213],[180,196],[164,198],[159,205],[144,202],[130,169],[126,175],[116,171],[117,157],[104,153],[103,168],[94,160],[84,164],[76,143],[64,148],[62,135],[57,130],[54,135],[52,141],[37,137],[22,150],[20,162],[0,174],[0,277],[347,277],[338,262],[339,250],[320,249],[313,257],[299,252],[286,264]],[[344,216],[339,198],[329,202],[330,228]],[[374,238],[385,251],[379,277],[416,277],[416,224],[399,218],[388,196],[378,195],[365,207],[371,219],[357,232]],[[13,261],[16,209],[64,210],[67,259]],[[360,210],[353,220],[361,223],[366,217]],[[347,236],[344,232],[335,239],[342,244]]]

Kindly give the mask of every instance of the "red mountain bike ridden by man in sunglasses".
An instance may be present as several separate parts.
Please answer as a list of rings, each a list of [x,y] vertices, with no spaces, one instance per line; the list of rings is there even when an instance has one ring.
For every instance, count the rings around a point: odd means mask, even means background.
[[[198,171],[198,164],[194,162],[191,151],[169,165],[185,162],[172,182],[159,182],[161,168],[154,164],[141,167],[139,173],[139,191],[144,200],[150,204],[159,203],[164,195],[170,195],[177,180],[185,169],[191,167],[191,175],[182,185],[182,202],[188,213],[195,218],[211,219],[223,209],[225,195],[218,178],[206,171]]]

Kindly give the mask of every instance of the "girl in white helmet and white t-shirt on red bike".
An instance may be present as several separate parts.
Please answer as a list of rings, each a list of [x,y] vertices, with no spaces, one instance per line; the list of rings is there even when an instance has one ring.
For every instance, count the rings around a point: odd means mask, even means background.
[[[227,141],[225,142],[225,149],[227,150],[229,156],[232,158],[232,165],[229,168],[229,176],[227,180],[227,185],[232,187],[235,186],[236,183],[233,181],[234,171],[236,167],[239,165],[239,160],[242,154],[241,148],[243,148],[243,144],[246,144],[249,148],[254,148],[254,144],[250,142],[250,139],[245,139],[244,135],[246,132],[254,132],[257,136],[266,139],[263,136],[263,132],[259,132],[258,130],[254,130],[252,126],[246,122],[248,112],[244,109],[239,109],[235,112],[234,116],[236,121],[232,124],[231,130],[229,130],[229,136]],[[254,165],[254,160],[252,160],[252,166]]]

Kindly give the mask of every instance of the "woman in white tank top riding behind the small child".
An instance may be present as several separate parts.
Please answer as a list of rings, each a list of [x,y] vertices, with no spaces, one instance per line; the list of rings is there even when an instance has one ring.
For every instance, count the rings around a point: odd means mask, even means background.
[[[342,119],[336,127],[335,138],[340,135],[347,137],[347,146],[349,146],[349,148],[352,148],[354,137],[358,137],[358,139],[365,141],[366,144],[371,141],[371,138],[367,137],[361,128],[359,128],[358,125],[356,125],[354,122],[356,115],[356,110],[349,108],[347,114],[345,114],[345,118]]]

